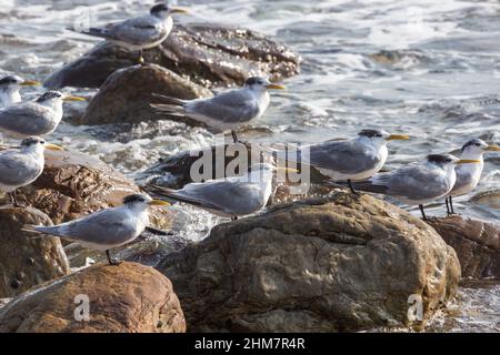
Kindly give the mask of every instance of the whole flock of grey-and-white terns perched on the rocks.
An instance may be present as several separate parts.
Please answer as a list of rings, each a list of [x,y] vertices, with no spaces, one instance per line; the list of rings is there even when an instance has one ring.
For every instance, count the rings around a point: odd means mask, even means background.
[[[138,63],[143,65],[142,51],[168,40],[173,27],[172,14],[186,12],[159,3],[142,17],[101,28],[68,29],[137,51]],[[22,140],[19,148],[0,151],[0,191],[10,195],[14,207],[22,207],[16,195],[17,189],[32,183],[42,173],[44,149],[62,150],[47,143],[41,136],[52,133],[61,122],[63,101],[84,100],[47,91],[34,101],[22,102],[20,89],[38,84],[17,75],[0,79],[0,133]],[[270,103],[269,90],[283,89],[283,85],[266,78],[251,77],[242,88],[227,90],[212,98],[180,100],[153,94],[150,104],[160,114],[187,116],[219,132],[230,130],[234,143],[241,143],[236,130],[262,116]],[[359,194],[359,191],[372,192],[393,196],[408,205],[418,205],[422,217],[427,220],[424,204],[439,199],[444,199],[447,213],[453,214],[452,197],[470,193],[480,181],[482,154],[500,151],[497,145],[472,139],[461,148],[460,158],[429,154],[422,161],[380,172],[388,159],[387,143],[409,139],[404,134],[366,129],[349,140],[302,146],[293,159],[284,149],[272,149],[268,153],[287,162],[309,164],[329,178],[326,184],[346,185],[353,194]],[[166,206],[169,203],[164,200],[174,200],[236,220],[259,212],[267,205],[277,170],[298,172],[260,162],[241,176],[190,183],[181,190],[148,185],[146,190],[158,200],[152,200],[146,193],[133,194],[126,196],[123,204],[118,207],[104,209],[54,226],[27,225],[23,230],[41,236],[57,235],[86,247],[106,251],[109,263],[117,264],[110,250],[133,241],[148,229],[149,206]]]

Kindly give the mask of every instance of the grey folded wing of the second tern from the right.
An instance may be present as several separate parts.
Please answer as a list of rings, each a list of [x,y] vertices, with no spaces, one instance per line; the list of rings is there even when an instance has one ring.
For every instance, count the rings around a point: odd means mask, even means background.
[[[421,165],[408,165],[370,179],[374,185],[386,186],[384,193],[410,200],[426,200],[446,193],[448,185],[442,175]]]

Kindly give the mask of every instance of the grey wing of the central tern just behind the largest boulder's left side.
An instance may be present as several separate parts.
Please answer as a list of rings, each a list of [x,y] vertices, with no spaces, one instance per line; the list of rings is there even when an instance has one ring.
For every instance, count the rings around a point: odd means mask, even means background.
[[[200,206],[240,212],[259,204],[261,196],[259,184],[233,179],[189,184],[178,191],[178,194]]]

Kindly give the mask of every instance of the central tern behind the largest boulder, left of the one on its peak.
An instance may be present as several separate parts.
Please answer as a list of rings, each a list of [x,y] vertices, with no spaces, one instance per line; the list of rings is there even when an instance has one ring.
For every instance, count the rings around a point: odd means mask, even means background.
[[[272,193],[272,176],[276,170],[297,172],[293,169],[261,163],[251,166],[250,172],[242,176],[190,183],[181,190],[157,185],[149,185],[147,190],[159,197],[181,201],[216,215],[237,220],[266,206]]]

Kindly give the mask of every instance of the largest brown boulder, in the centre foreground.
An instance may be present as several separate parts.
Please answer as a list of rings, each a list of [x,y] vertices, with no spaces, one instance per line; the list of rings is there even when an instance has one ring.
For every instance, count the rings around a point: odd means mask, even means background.
[[[158,270],[192,332],[403,326],[410,296],[428,320],[460,280],[454,251],[428,224],[347,192],[218,225]]]

